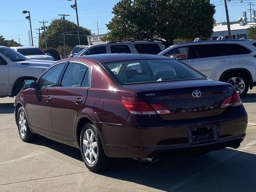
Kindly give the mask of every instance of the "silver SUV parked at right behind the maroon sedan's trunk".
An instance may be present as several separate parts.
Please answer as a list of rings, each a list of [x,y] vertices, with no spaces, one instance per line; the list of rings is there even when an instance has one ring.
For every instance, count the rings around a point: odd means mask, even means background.
[[[176,44],[164,55],[192,66],[209,78],[232,84],[240,97],[256,86],[256,40],[214,40]]]

